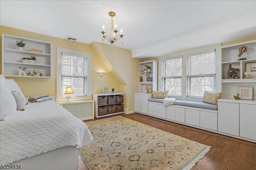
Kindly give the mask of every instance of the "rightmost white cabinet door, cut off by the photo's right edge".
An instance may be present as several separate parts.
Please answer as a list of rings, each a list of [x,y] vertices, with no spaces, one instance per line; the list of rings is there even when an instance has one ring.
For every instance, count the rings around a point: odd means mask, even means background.
[[[256,140],[256,105],[240,104],[240,137]]]

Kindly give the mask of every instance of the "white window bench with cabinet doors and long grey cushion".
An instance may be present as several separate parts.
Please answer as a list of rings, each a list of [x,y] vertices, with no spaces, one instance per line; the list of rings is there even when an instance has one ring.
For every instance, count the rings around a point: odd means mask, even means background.
[[[143,114],[143,113],[142,113]],[[148,99],[148,114],[152,117],[217,133],[218,106],[205,102],[175,100],[165,107],[163,99]]]

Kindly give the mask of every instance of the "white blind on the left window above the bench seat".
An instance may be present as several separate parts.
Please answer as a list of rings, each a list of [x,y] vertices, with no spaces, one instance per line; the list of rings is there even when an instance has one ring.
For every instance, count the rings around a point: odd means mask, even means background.
[[[162,61],[162,90],[169,96],[181,96],[182,58]]]

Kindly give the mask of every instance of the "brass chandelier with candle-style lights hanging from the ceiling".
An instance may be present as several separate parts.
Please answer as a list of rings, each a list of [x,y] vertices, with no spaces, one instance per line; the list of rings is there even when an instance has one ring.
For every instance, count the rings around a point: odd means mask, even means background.
[[[116,16],[116,13],[114,12],[109,12],[108,13],[109,16],[111,16],[111,23],[110,24],[110,28],[108,29],[108,31],[105,31],[105,27],[103,25],[103,30],[102,30],[102,41],[103,41],[103,45],[104,45],[104,40],[108,40],[112,45],[113,43],[115,43],[116,41],[118,41],[120,38],[123,39],[122,35],[122,29],[120,30],[120,35],[118,36],[118,31],[116,30],[116,24],[113,22],[113,17]],[[123,41],[122,41],[123,44]]]

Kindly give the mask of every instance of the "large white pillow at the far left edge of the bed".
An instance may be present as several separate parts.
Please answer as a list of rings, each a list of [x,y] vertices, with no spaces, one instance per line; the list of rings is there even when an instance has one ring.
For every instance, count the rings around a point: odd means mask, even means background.
[[[16,101],[3,76],[0,76],[0,101],[0,120],[12,117],[16,112]]]

